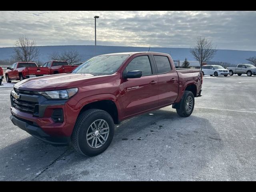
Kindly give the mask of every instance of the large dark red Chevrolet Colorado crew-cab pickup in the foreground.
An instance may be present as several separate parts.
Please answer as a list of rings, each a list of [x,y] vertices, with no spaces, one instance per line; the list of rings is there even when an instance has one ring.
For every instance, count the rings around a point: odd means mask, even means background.
[[[108,148],[122,120],[169,105],[190,116],[202,81],[198,69],[175,69],[169,54],[105,54],[69,74],[15,84],[10,119],[40,140],[71,141],[78,152],[95,156]]]

